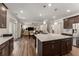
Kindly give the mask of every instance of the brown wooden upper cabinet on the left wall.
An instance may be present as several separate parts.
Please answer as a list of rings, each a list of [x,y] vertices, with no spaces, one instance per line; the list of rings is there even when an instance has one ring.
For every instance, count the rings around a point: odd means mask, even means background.
[[[0,28],[6,28],[7,23],[7,7],[0,3]]]

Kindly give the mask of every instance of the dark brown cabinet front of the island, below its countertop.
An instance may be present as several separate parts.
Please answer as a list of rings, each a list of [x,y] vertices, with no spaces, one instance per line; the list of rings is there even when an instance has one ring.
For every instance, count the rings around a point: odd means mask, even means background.
[[[40,49],[39,49],[40,50]],[[72,39],[53,40],[42,43],[43,56],[66,55],[72,50]]]

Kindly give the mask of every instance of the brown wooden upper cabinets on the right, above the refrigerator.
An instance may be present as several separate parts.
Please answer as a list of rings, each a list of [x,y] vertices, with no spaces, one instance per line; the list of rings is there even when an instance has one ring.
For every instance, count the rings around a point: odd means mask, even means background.
[[[64,19],[64,29],[72,29],[73,23],[79,23],[79,15]]]

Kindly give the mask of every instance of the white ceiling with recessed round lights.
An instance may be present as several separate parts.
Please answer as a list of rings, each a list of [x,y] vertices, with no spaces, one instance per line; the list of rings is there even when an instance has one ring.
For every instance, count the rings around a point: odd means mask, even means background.
[[[57,20],[79,12],[79,3],[5,3],[23,23]],[[67,12],[68,10],[68,12]]]

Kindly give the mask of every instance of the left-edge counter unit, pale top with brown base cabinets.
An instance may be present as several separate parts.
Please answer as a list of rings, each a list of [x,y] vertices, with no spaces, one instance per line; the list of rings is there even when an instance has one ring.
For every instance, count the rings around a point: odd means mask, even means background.
[[[9,56],[13,51],[13,37],[0,37],[0,56]]]

